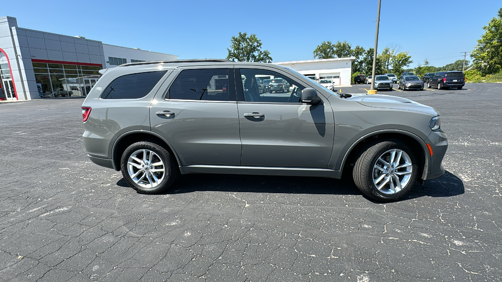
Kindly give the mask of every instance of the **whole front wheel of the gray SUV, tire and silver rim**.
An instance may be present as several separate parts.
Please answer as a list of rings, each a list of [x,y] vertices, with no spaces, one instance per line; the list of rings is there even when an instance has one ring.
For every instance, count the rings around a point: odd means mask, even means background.
[[[354,183],[366,196],[391,202],[403,198],[415,184],[418,161],[400,140],[369,147],[355,162]]]

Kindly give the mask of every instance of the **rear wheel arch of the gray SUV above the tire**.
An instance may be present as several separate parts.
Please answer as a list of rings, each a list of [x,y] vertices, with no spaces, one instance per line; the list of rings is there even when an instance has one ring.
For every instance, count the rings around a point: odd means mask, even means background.
[[[111,149],[111,161],[113,162],[113,168],[116,171],[120,170],[120,159],[123,152],[126,151],[131,144],[143,139],[155,140],[159,143],[159,145],[165,146],[166,150],[175,156],[178,166],[181,166],[178,155],[173,150],[169,142],[167,142],[167,140],[161,135],[147,130],[133,130],[123,133],[113,143],[113,147]]]

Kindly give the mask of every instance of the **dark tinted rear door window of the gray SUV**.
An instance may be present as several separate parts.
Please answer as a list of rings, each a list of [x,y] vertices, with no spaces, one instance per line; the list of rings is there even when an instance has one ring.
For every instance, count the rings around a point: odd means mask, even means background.
[[[169,99],[228,101],[228,69],[184,70],[169,87]]]

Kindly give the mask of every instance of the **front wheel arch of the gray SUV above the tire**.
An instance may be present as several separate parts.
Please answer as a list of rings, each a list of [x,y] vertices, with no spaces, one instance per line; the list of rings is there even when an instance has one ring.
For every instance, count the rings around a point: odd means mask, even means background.
[[[340,170],[345,170],[350,166],[353,166],[358,156],[362,154],[370,146],[387,139],[399,139],[403,142],[410,144],[411,150],[419,158],[419,168],[421,171],[420,179],[425,179],[428,168],[430,167],[430,156],[428,154],[428,148],[425,142],[417,135],[412,132],[405,130],[379,130],[374,131],[357,139],[355,143],[350,146],[350,148],[345,152],[342,163],[340,165]]]

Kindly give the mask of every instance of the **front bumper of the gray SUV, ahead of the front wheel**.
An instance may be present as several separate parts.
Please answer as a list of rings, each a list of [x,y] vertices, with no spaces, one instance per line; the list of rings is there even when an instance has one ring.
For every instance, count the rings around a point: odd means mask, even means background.
[[[448,149],[448,138],[443,130],[431,131],[425,143],[431,146],[432,156],[430,156],[431,162],[424,180],[438,178],[444,174],[442,162]]]

